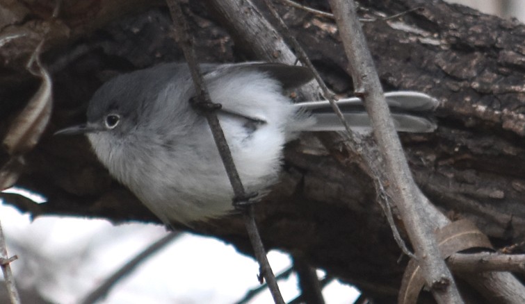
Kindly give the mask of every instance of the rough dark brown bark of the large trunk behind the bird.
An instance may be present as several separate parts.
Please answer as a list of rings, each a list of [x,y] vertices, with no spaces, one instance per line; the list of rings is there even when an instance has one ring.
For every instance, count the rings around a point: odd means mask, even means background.
[[[54,80],[54,113],[40,144],[26,155],[17,183],[48,201],[35,205],[18,196],[2,196],[35,217],[156,221],[108,176],[84,138],[51,134],[83,121],[90,95],[108,77],[181,60],[168,11],[148,1],[82,1],[97,3],[83,8],[64,2],[58,19],[51,18],[55,1],[39,1],[39,6],[28,1],[24,6],[22,1],[0,4],[1,138],[35,91],[36,81],[24,65],[40,42],[42,27],[60,28],[50,30],[56,35],[45,44],[42,58]],[[325,1],[306,2],[328,10]],[[442,101],[435,133],[401,135],[417,183],[451,219],[471,219],[496,248],[518,244],[515,252],[524,252],[525,26],[442,1],[361,4],[368,9],[363,11],[366,16],[424,8],[388,22],[364,24],[385,91],[421,90]],[[348,63],[333,20],[278,8],[332,90],[351,92]],[[90,18],[76,17],[79,12]],[[202,61],[257,59],[234,43],[216,12],[201,1],[189,1],[186,12]],[[19,33],[24,36],[5,39]],[[286,147],[280,183],[257,205],[261,235],[267,248],[325,269],[379,303],[394,302],[407,259],[396,262],[401,250],[375,203],[373,180],[341,140],[344,137],[332,133],[305,133]],[[0,166],[6,160],[0,149]],[[250,253],[239,216],[202,223],[194,232],[214,235]]]

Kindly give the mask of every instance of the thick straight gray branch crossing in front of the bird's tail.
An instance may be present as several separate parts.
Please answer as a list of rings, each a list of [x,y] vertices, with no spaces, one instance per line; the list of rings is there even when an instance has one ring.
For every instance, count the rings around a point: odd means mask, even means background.
[[[389,115],[379,77],[366,47],[354,1],[330,0],[341,40],[350,62],[357,96],[364,99],[371,117],[373,133],[385,160],[385,169],[394,188],[396,205],[424,271],[426,283],[438,303],[463,303],[451,272],[439,253],[426,211],[417,203],[420,192],[405,160],[401,142]]]

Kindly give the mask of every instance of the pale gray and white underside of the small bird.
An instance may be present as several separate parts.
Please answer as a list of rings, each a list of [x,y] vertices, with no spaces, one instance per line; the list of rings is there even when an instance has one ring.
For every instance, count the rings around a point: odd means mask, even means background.
[[[277,180],[284,132],[279,126],[266,124],[247,137],[238,121],[224,119],[221,125],[229,130],[225,135],[245,191],[264,192]],[[216,144],[211,134],[203,136],[209,133],[208,126],[191,132],[199,134],[188,133],[186,137],[198,141],[170,149],[160,144],[162,140],[150,138],[150,153],[129,153],[127,158],[115,158],[120,162],[106,163],[111,173],[165,223],[203,221],[234,209],[234,192]]]

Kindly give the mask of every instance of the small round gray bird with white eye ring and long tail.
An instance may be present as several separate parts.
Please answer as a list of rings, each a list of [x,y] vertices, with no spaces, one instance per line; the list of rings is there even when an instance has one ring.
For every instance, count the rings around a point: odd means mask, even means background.
[[[201,65],[211,100],[247,192],[277,181],[283,146],[300,131],[343,130],[328,101],[292,103],[284,90],[312,76],[305,67],[247,62]],[[88,135],[110,174],[166,224],[221,217],[234,193],[206,119],[188,102],[195,95],[186,64],[168,63],[117,76],[95,92],[86,124],[56,134]],[[423,114],[437,106],[419,92],[385,94],[396,128],[426,133]],[[352,128],[369,128],[360,99],[339,101]]]

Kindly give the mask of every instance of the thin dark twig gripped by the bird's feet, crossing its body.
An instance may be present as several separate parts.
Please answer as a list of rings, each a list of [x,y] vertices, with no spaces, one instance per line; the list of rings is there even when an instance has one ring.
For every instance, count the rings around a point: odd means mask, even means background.
[[[167,0],[166,2],[170,8],[170,14],[175,25],[177,39],[179,40],[179,44],[184,52],[184,57],[186,58],[186,61],[188,62],[191,70],[191,76],[193,78],[193,83],[195,84],[195,91],[197,92],[197,104],[209,108],[209,110],[204,111],[204,115],[207,118],[208,124],[210,126],[213,139],[215,140],[220,154],[220,158],[223,160],[229,182],[232,184],[234,189],[234,203],[245,203],[245,205],[247,205],[244,213],[245,226],[246,230],[248,231],[248,236],[250,237],[250,242],[252,243],[255,257],[259,262],[261,275],[268,283],[268,287],[273,296],[273,301],[275,301],[275,303],[284,303],[279,286],[277,285],[277,280],[275,280],[275,275],[273,274],[270,263],[268,262],[268,258],[266,257],[266,251],[264,250],[264,245],[262,244],[259,230],[257,229],[257,224],[255,223],[253,205],[248,202],[249,196],[245,193],[241,178],[239,177],[239,173],[236,170],[232,158],[232,153],[229,151],[229,146],[226,142],[223,130],[220,128],[217,115],[213,111],[213,109],[220,108],[220,105],[216,105],[211,102],[209,94],[205,88],[204,79],[200,74],[200,68],[193,50],[193,41],[188,35],[188,25],[186,24],[186,19],[182,12],[179,1]]]

